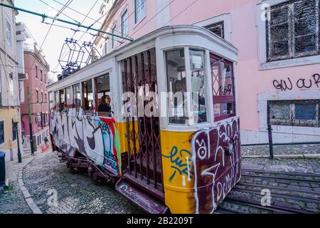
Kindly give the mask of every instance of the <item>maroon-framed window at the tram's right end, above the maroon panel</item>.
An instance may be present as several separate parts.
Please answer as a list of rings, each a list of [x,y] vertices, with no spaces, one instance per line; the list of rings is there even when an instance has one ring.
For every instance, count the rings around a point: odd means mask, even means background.
[[[233,63],[210,55],[215,121],[235,116]]]

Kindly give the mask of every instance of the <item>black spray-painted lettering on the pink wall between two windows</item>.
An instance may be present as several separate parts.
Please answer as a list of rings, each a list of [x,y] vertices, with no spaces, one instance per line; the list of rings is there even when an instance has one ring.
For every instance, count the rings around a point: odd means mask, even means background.
[[[277,90],[292,90],[295,87],[298,89],[320,88],[320,75],[315,73],[311,78],[299,78],[297,81],[287,78],[285,80],[274,80],[273,86]]]

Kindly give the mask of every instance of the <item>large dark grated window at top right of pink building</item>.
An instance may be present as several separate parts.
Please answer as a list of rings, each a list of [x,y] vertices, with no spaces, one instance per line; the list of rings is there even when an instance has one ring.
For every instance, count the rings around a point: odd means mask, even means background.
[[[290,0],[267,11],[267,62],[319,55],[320,0]]]

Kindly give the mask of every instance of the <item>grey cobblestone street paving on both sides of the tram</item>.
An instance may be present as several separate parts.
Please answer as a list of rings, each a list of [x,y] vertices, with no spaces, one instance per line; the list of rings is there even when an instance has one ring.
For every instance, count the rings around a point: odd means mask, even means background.
[[[23,160],[25,165],[30,162],[31,158]],[[29,214],[32,213],[26,204],[25,199],[18,187],[17,175],[22,165],[16,168],[9,168],[8,177],[10,179],[9,189],[0,196],[0,214]],[[242,160],[242,169],[257,170],[267,172],[298,172],[320,175],[320,160],[308,159],[274,159],[267,158],[244,158]],[[32,160],[23,169],[23,182],[26,189],[36,205],[41,209],[41,212],[48,214],[113,214],[113,213],[143,213],[141,209],[136,207],[128,199],[119,195],[114,190],[112,185],[98,185],[90,177],[80,172],[70,171],[63,163],[53,157],[51,152],[37,155],[36,159]],[[228,197],[241,198],[249,197],[247,200],[257,200],[259,195],[250,193],[250,191],[257,191],[257,189],[243,188],[242,185],[270,185],[270,187],[280,186],[280,183],[265,180],[250,180],[247,177],[242,177],[240,183],[230,192]],[[289,185],[288,185],[289,186]],[[304,186],[306,189],[307,187]],[[316,186],[315,191],[319,192],[319,185]],[[58,204],[50,204],[50,195],[56,191],[58,197]],[[242,191],[247,191],[244,194]],[[249,191],[249,193],[248,193]],[[283,193],[281,190],[278,190]],[[298,192],[290,194],[299,195]],[[253,197],[253,198],[252,198]],[[281,201],[281,200],[280,200]],[[277,202],[280,204],[287,204],[287,202]],[[294,204],[294,203],[292,203]],[[50,206],[49,206],[50,205]],[[295,204],[294,204],[295,205]],[[315,204],[306,204],[308,207],[318,206]],[[319,208],[318,208],[319,209]],[[218,207],[218,212],[225,212],[226,210],[233,210],[237,213],[267,213],[263,209],[249,207],[246,205],[235,204],[229,199],[225,200]]]

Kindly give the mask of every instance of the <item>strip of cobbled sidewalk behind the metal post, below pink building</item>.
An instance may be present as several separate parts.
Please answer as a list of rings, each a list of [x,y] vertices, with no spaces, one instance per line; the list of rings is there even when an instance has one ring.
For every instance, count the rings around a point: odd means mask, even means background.
[[[242,146],[242,157],[261,158],[269,157],[269,145]],[[320,158],[320,145],[274,145],[274,157],[279,158]]]

